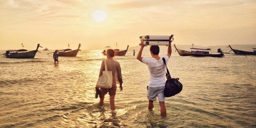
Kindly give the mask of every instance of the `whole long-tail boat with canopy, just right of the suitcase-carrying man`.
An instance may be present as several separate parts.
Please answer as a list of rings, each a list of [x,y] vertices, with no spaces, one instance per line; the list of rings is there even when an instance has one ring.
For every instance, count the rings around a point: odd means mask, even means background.
[[[177,47],[174,44],[175,49],[178,51],[179,55],[181,56],[198,56],[198,57],[204,57],[204,56],[209,56],[209,57],[223,57],[224,54],[210,54],[211,49],[201,49],[201,48],[190,48],[191,51],[185,51],[181,49],[177,49]]]

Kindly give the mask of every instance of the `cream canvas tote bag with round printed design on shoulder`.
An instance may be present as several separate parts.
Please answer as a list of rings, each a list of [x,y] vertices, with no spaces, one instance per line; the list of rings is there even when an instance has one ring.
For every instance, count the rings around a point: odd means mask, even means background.
[[[106,60],[104,60],[105,71],[102,71],[102,76],[99,77],[96,87],[112,88],[113,76],[112,71],[108,71]]]

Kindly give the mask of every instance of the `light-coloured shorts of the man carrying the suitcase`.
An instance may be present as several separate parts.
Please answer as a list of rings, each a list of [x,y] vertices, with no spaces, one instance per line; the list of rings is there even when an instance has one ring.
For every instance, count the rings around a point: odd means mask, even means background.
[[[163,95],[164,86],[148,87],[148,100],[165,102],[166,97]]]

